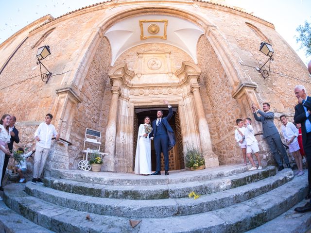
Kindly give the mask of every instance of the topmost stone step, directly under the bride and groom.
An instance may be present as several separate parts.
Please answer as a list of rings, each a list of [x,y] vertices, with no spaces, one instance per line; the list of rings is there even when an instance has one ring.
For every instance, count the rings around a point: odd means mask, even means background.
[[[107,185],[158,185],[219,179],[246,172],[249,167],[241,164],[222,165],[198,171],[170,171],[169,176],[164,176],[164,172],[159,176],[141,176],[134,173],[52,169],[51,176],[59,179]]]

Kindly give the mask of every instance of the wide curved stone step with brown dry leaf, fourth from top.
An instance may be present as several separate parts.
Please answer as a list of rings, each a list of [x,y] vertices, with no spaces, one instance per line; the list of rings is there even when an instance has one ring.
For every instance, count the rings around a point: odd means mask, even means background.
[[[305,174],[254,199],[223,209],[163,218],[146,218],[144,215],[139,218],[127,218],[89,214],[31,197],[23,192],[23,188],[18,184],[7,185],[4,190],[6,204],[17,213],[55,232],[242,233],[274,219],[293,207],[306,196],[308,184]],[[92,221],[87,219],[87,215]],[[130,219],[141,220],[141,222],[135,228],[131,228]]]

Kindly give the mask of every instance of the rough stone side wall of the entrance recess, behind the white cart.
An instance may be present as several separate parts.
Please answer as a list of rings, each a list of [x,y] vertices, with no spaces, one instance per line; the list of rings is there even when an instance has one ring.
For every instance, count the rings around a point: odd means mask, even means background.
[[[101,39],[91,65],[85,77],[80,98],[81,103],[77,109],[72,122],[69,147],[69,167],[76,168],[79,160],[82,159],[84,136],[86,128],[102,132],[101,151],[104,151],[104,138],[106,123],[111,100],[110,69],[111,54],[109,42],[106,38]],[[86,145],[90,149],[96,149],[96,145]]]

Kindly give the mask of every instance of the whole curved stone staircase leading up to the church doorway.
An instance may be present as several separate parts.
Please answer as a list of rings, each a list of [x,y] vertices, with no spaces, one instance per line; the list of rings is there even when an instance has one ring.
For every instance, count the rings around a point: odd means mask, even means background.
[[[293,208],[307,201],[307,180],[307,172],[294,177],[291,169],[276,172],[274,166],[169,176],[55,169],[44,185],[5,186],[0,233],[303,233],[311,228],[311,213]],[[192,191],[201,196],[190,199]],[[140,223],[132,228],[130,220]]]

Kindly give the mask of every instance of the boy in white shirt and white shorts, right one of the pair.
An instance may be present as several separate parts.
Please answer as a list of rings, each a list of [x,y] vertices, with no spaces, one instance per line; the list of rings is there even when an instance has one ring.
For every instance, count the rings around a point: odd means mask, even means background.
[[[259,153],[258,153],[259,152],[258,142],[257,142],[257,139],[255,138],[254,129],[251,126],[251,123],[252,123],[251,118],[246,118],[244,120],[244,125],[245,125],[244,136],[245,136],[245,141],[246,141],[246,156],[249,159],[249,162],[251,162],[251,164],[252,164],[252,167],[248,169],[249,171],[262,169],[261,161],[260,161],[260,157],[259,157]],[[258,168],[254,163],[252,152],[255,154],[255,156],[257,158],[258,165],[259,165]]]

